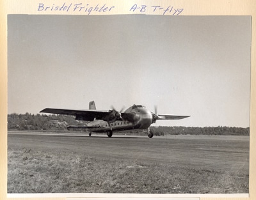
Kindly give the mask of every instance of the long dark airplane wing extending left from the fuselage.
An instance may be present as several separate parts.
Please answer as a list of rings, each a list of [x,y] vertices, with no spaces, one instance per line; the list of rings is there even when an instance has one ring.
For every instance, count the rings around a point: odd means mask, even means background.
[[[40,112],[72,115],[72,116],[76,116],[76,119],[84,120],[84,121],[93,121],[93,119],[106,119],[111,114],[110,111],[51,109],[51,108],[46,108]]]

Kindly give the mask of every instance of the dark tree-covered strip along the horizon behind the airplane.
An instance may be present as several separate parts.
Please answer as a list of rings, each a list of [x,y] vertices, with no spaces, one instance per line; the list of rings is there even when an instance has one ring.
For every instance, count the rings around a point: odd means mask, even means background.
[[[33,130],[65,132],[68,125],[86,125],[86,121],[78,121],[74,116],[57,114],[8,114],[8,130]],[[150,127],[154,135],[249,135],[250,128],[241,127]],[[126,131],[127,132],[127,131]],[[129,130],[129,133],[139,133]]]

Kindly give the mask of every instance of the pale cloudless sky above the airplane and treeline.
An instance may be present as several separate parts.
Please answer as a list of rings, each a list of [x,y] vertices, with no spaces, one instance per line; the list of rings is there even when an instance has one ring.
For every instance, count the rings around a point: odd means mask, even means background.
[[[94,100],[249,127],[250,50],[249,16],[8,15],[8,114]]]

